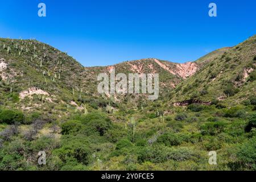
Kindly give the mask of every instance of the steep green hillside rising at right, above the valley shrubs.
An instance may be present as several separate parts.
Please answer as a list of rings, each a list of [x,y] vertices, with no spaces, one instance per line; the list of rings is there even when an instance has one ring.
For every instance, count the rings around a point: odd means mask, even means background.
[[[223,50],[222,50],[223,52]],[[212,60],[203,57],[200,71],[184,80],[174,91],[172,101],[191,98],[201,101],[220,100],[237,104],[256,92],[256,36],[236,47],[225,49]]]

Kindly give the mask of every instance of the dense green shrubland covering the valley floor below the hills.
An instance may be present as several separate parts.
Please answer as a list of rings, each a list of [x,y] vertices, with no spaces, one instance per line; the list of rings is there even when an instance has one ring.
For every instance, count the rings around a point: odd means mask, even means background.
[[[150,112],[132,112],[123,122],[110,119],[121,117],[118,112],[91,111],[73,114],[60,124],[38,113],[1,109],[9,114],[0,114],[0,169],[254,170],[254,101],[251,96],[234,107],[176,107],[176,113],[164,114],[164,119],[158,113],[165,107],[158,104]],[[37,164],[41,150],[47,154],[46,166]],[[212,150],[217,166],[208,164]]]

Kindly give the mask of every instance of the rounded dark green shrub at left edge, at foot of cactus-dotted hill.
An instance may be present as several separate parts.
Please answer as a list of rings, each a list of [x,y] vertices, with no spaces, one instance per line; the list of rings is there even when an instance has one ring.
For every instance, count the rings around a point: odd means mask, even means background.
[[[7,123],[9,125],[14,123],[23,123],[24,118],[24,114],[20,111],[7,109],[0,111],[0,123]]]

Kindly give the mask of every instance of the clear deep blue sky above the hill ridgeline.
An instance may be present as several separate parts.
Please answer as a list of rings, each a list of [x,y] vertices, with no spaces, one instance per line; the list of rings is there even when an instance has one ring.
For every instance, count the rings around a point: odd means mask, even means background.
[[[46,3],[47,17],[38,17]],[[208,16],[210,2],[217,18]],[[183,63],[256,34],[255,0],[8,0],[0,37],[36,38],[84,66],[156,57]]]

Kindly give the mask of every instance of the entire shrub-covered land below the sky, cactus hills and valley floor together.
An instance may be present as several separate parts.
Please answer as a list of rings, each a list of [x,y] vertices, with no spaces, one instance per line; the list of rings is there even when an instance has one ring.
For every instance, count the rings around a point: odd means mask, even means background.
[[[255,170],[255,61],[256,36],[194,62],[107,67],[0,39],[0,170]],[[159,73],[159,99],[99,94],[98,74],[113,69]]]

